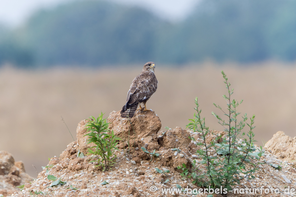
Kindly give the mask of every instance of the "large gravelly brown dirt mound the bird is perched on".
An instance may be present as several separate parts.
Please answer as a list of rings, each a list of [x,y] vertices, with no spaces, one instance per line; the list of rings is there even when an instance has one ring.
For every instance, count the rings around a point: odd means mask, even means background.
[[[59,158],[52,158],[47,168],[39,173],[38,178],[32,183],[27,183],[23,191],[14,193],[12,196],[29,197],[32,194],[38,196],[96,196],[96,197],[140,197],[140,196],[194,196],[187,194],[184,190],[181,194],[164,194],[163,189],[168,188],[189,188],[200,189],[194,185],[191,178],[183,178],[177,166],[183,163],[189,168],[195,160],[197,163],[202,159],[196,154],[197,149],[203,147],[197,142],[202,142],[200,133],[186,131],[176,127],[168,131],[159,131],[161,123],[154,112],[136,112],[136,115],[127,120],[120,117],[119,112],[112,112],[108,118],[110,128],[115,134],[120,136],[119,150],[116,164],[111,170],[102,172],[96,168],[95,163],[89,162],[90,156],[78,155],[78,150],[83,152],[89,146],[87,139],[83,136],[86,132],[84,126],[86,120],[81,121],[77,127],[77,142],[74,141],[67,146]],[[132,131],[132,132],[131,132]],[[128,136],[128,132],[130,135]],[[135,132],[135,133],[133,133]],[[212,131],[208,133],[207,139],[213,141],[216,136],[227,138],[224,132]],[[129,140],[129,141],[128,141]],[[241,140],[241,142],[243,142]],[[130,144],[128,154],[127,144]],[[217,141],[216,143],[219,143]],[[158,157],[150,157],[143,152],[141,147],[147,148],[150,152],[156,149]],[[256,149],[259,147],[255,145]],[[208,150],[210,157],[217,157],[215,149]],[[258,151],[258,150],[256,150]],[[9,159],[8,159],[9,160]],[[255,161],[253,161],[255,163]],[[281,169],[279,167],[281,167]],[[253,167],[253,166],[250,166]],[[276,169],[276,167],[279,169]],[[291,163],[277,159],[273,154],[265,151],[258,165],[259,170],[254,174],[254,179],[244,178],[236,187],[243,188],[279,188],[280,194],[272,196],[285,196],[284,190],[296,186],[296,170]],[[206,169],[198,167],[197,173],[205,172]],[[55,176],[65,184],[51,186],[54,180],[49,180],[48,175]],[[152,188],[153,187],[153,188]],[[157,188],[156,190],[153,190]],[[151,190],[152,189],[152,190]],[[208,196],[209,193],[198,194],[198,196]],[[215,194],[216,197],[222,197]],[[254,194],[234,194],[227,196],[254,196]],[[256,195],[255,195],[256,196]],[[269,196],[262,194],[257,196]]]

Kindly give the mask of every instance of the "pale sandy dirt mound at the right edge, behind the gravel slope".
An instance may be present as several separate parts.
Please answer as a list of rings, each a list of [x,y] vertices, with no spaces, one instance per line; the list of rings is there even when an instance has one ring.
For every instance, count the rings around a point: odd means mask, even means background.
[[[296,160],[296,136],[291,138],[283,131],[278,131],[264,147],[281,160],[289,162]]]

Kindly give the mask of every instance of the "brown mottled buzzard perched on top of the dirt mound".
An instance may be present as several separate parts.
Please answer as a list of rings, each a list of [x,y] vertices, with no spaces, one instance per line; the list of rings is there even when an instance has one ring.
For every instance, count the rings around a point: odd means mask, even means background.
[[[131,87],[126,97],[126,105],[123,106],[120,112],[122,118],[132,118],[138,105],[140,110],[149,111],[146,108],[146,102],[156,91],[158,84],[154,68],[154,62],[147,62],[142,72],[131,82]],[[144,104],[144,109],[141,107],[141,104]]]

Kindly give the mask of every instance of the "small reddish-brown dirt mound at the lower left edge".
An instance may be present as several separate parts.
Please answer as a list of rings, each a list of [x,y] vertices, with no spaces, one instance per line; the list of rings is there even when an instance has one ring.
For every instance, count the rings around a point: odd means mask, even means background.
[[[25,173],[25,167],[21,161],[15,162],[12,154],[0,151],[0,194],[7,196],[20,191],[16,186],[31,180],[33,178]]]

